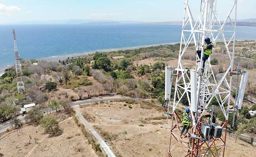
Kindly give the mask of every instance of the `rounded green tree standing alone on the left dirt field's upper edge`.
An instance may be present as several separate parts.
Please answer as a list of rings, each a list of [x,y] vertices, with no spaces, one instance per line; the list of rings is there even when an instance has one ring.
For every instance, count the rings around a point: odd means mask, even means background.
[[[50,134],[50,136],[55,136],[61,133],[59,128],[59,122],[55,115],[44,116],[40,120],[40,125],[44,128],[45,132]]]

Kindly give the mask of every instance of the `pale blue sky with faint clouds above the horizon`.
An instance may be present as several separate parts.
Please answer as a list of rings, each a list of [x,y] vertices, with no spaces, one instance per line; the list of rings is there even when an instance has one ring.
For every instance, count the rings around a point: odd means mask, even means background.
[[[194,16],[200,0],[188,0]],[[0,0],[0,24],[46,20],[182,21],[185,0]],[[217,0],[223,20],[234,0]],[[256,18],[255,0],[238,0],[237,18]],[[223,18],[223,19],[222,19]]]

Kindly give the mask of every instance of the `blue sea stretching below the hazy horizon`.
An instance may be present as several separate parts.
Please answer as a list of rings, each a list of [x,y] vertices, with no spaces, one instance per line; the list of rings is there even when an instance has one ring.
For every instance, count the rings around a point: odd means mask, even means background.
[[[95,51],[180,42],[180,25],[0,25],[0,73],[14,63],[12,29],[20,58],[59,60]],[[231,29],[226,27],[226,29]],[[230,38],[231,34],[226,38]],[[237,26],[236,39],[256,39],[256,27]]]

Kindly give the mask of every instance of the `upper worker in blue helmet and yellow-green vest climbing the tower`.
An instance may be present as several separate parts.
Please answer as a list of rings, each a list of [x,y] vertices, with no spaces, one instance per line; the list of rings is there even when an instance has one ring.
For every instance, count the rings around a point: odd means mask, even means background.
[[[204,39],[204,45],[202,46],[203,50],[204,50],[204,56],[202,57],[202,61],[203,61],[203,73],[204,73],[204,64],[205,61],[208,60],[208,58],[211,56],[212,53],[212,49],[214,47],[214,42],[211,42],[210,38],[205,38]],[[198,57],[201,59],[201,53],[202,50],[197,50],[197,55]]]

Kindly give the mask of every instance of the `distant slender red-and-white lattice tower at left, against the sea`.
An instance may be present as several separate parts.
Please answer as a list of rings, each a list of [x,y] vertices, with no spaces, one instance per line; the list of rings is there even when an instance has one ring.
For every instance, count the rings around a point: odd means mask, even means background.
[[[18,52],[17,43],[16,43],[15,29],[13,29],[13,42],[14,42],[14,52],[15,52],[15,69],[16,69],[16,75],[17,75],[18,93],[25,93],[25,85],[22,78],[22,70],[21,70],[19,52]]]

